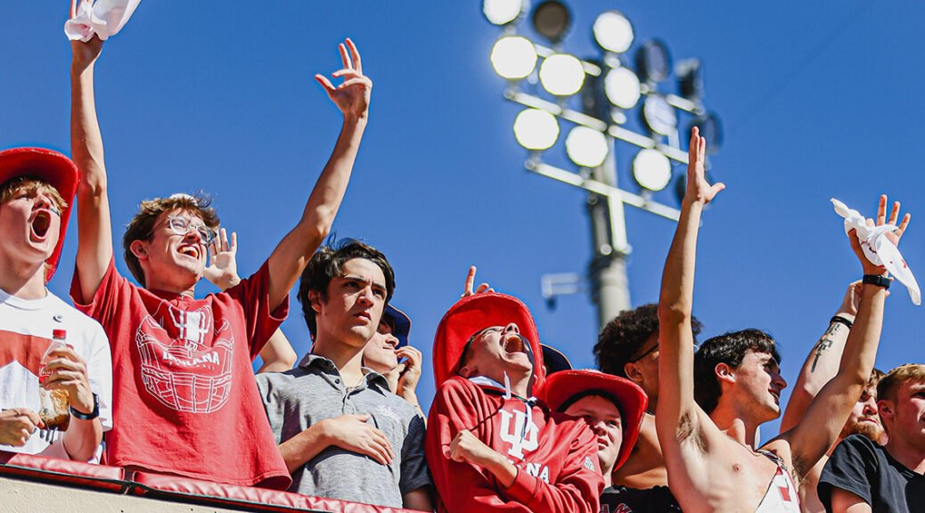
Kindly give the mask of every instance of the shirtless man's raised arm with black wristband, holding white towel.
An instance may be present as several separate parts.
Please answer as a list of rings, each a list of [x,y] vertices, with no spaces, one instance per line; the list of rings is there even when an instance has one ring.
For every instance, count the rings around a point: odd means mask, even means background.
[[[878,226],[884,223],[885,213],[886,196],[881,196],[877,213]],[[898,215],[899,202],[895,202],[890,214],[890,224],[895,224]],[[872,225],[873,221],[868,220],[868,223]],[[902,224],[888,237],[894,243],[898,243],[908,223],[909,215],[906,214]],[[855,232],[852,231],[848,237],[852,249],[861,261],[864,275],[885,276],[886,270],[870,263],[864,256]],[[886,296],[885,287],[871,284],[861,287],[860,306],[845,343],[838,373],[822,387],[796,426],[781,435],[781,438],[790,444],[794,470],[800,477],[805,475],[832,446],[870,378],[870,371],[873,370],[874,360],[877,358],[877,346],[880,343],[883,303]]]

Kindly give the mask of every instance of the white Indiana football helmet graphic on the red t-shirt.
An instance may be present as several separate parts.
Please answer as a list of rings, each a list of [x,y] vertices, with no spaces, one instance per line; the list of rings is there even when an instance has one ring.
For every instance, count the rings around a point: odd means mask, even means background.
[[[215,329],[210,308],[170,308],[164,325],[147,316],[135,332],[144,389],[164,406],[211,413],[228,401],[234,336],[228,321]]]

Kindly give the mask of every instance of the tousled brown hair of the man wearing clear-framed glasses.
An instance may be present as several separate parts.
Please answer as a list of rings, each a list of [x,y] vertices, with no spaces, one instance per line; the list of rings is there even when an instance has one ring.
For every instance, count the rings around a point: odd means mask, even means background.
[[[195,196],[189,194],[174,194],[169,198],[154,198],[142,202],[138,206],[138,214],[131,218],[131,222],[125,228],[125,235],[122,237],[122,251],[125,256],[125,263],[129,266],[131,275],[135,276],[138,283],[145,284],[144,272],[142,265],[138,262],[138,257],[131,252],[131,243],[136,240],[147,240],[151,238],[154,231],[154,225],[157,223],[157,217],[160,214],[181,210],[195,214],[203,218],[203,223],[212,229],[218,228],[218,214],[210,205],[212,198],[197,192]]]

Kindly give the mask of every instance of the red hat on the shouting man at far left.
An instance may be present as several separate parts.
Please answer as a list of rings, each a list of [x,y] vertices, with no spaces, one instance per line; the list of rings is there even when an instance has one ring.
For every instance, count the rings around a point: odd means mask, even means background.
[[[61,257],[64,234],[68,232],[70,208],[80,181],[80,171],[67,156],[44,148],[13,148],[0,152],[0,184],[18,177],[41,179],[57,189],[64,201],[68,202],[68,206],[61,211],[61,231],[57,246],[45,261],[51,266],[48,275],[45,276],[45,283],[48,283],[55,275],[57,262]]]

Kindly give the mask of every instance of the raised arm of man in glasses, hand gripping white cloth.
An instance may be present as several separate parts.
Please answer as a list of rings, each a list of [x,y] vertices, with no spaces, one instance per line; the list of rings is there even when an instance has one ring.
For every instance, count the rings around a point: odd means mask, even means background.
[[[113,257],[109,198],[106,195],[106,168],[103,135],[96,119],[93,97],[93,67],[103,50],[103,42],[93,36],[87,43],[70,42],[70,151],[80,168],[77,188],[77,275],[81,302],[93,299]]]

